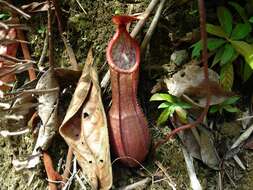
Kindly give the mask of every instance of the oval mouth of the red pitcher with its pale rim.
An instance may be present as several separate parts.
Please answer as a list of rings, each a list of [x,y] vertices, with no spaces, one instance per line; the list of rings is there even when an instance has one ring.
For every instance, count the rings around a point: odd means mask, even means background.
[[[125,30],[118,30],[107,48],[109,65],[121,73],[132,73],[140,64],[140,48]]]

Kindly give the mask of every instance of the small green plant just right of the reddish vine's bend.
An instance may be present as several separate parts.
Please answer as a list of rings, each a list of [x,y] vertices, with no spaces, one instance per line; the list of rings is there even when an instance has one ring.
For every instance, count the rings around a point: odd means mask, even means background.
[[[218,105],[211,106],[209,109],[209,113],[219,112],[220,114],[222,114],[223,110],[230,112],[230,113],[239,112],[240,110],[237,107],[235,107],[235,103],[239,99],[240,99],[239,96],[229,97],[228,99],[226,99],[222,103],[220,103]]]

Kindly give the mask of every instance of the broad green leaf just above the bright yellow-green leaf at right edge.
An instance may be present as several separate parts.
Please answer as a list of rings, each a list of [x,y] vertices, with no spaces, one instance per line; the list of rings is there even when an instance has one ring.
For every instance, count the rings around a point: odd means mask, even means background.
[[[231,39],[233,40],[241,40],[248,36],[251,32],[251,26],[249,23],[243,24],[238,23],[236,24],[235,28],[232,31]]]

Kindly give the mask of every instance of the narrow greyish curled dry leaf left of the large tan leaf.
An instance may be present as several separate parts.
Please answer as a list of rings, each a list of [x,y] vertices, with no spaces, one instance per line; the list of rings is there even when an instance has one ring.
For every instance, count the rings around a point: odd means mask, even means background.
[[[49,69],[41,76],[36,86],[36,89],[49,90],[53,88],[58,88],[58,86],[59,84],[54,76],[53,69]],[[18,162],[17,160],[13,160],[13,165],[16,170],[35,167],[40,162],[40,150],[47,150],[54,135],[58,130],[58,91],[54,90],[51,92],[40,94],[38,97],[38,103],[38,115],[42,122],[42,125],[39,129],[38,138],[30,159],[24,162]]]

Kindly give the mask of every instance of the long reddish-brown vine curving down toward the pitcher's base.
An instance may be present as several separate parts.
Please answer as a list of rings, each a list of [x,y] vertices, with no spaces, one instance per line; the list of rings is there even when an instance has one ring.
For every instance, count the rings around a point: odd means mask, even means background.
[[[203,112],[200,114],[200,116],[197,118],[197,120],[193,123],[189,123],[186,125],[183,125],[181,127],[178,127],[174,129],[171,133],[169,133],[164,140],[158,141],[155,146],[154,150],[156,150],[157,147],[160,145],[166,143],[171,137],[173,137],[175,134],[179,133],[180,131],[183,131],[185,129],[190,129],[196,127],[199,123],[203,122],[205,116],[207,115],[210,101],[211,101],[211,93],[210,93],[210,87],[209,87],[209,78],[208,78],[208,54],[207,54],[207,34],[206,34],[206,13],[205,13],[205,3],[204,0],[198,0],[199,3],[199,14],[200,14],[200,32],[201,32],[201,39],[203,43],[203,50],[202,50],[202,61],[204,64],[204,76],[205,76],[205,82],[206,82],[206,88],[207,88],[207,100],[206,100],[206,106],[203,110]]]

